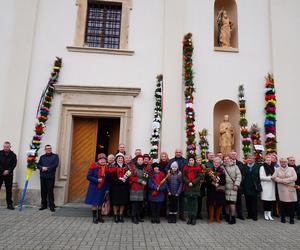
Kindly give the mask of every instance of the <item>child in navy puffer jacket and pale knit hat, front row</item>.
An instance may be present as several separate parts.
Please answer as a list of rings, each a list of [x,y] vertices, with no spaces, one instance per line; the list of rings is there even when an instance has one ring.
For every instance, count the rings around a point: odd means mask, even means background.
[[[178,170],[178,163],[174,161],[169,170],[167,178],[167,190],[169,197],[169,217],[168,223],[176,223],[178,213],[178,197],[182,191],[182,174]]]

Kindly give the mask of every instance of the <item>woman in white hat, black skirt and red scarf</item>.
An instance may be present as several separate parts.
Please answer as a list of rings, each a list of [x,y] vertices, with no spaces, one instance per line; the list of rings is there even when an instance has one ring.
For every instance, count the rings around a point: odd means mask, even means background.
[[[129,185],[124,177],[127,171],[128,166],[125,164],[124,155],[118,153],[116,155],[116,162],[110,169],[111,203],[113,205],[114,221],[116,223],[124,222],[124,208],[129,201]]]

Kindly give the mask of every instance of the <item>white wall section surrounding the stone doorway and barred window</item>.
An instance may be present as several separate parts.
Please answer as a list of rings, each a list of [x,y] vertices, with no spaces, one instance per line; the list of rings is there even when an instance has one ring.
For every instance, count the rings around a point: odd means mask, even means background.
[[[48,82],[55,56],[63,58],[60,84],[141,88],[133,107],[131,148],[128,151],[140,147],[143,152],[148,152],[156,75],[162,71],[163,2],[134,1],[129,28],[129,49],[135,51],[133,56],[67,51],[66,46],[72,45],[74,38],[76,13],[75,1],[53,0],[39,4],[20,155],[24,156],[28,150],[37,103]],[[59,143],[59,101],[56,95],[42,144],[42,148],[52,144],[54,151]],[[26,164],[25,157],[20,160]],[[25,168],[18,178],[21,186],[24,180]],[[39,188],[38,173],[33,174],[29,188]]]

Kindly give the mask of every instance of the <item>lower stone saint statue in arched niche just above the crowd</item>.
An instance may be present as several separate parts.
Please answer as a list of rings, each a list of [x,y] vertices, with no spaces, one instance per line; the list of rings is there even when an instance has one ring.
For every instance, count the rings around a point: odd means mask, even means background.
[[[219,146],[223,155],[228,155],[234,144],[234,128],[229,122],[229,116],[224,115],[224,121],[220,124]]]

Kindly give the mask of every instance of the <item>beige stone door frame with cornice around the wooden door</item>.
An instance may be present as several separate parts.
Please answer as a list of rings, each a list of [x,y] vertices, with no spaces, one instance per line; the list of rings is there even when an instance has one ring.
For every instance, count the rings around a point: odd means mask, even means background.
[[[60,157],[60,167],[56,176],[55,201],[57,205],[68,202],[69,176],[71,168],[71,151],[74,117],[105,118],[114,117],[120,119],[119,143],[125,143],[130,148],[132,106],[134,97],[140,93],[140,89],[128,88],[128,91],[120,91],[120,88],[91,87],[87,86],[56,86],[56,92],[60,95],[61,116],[57,139],[57,152]],[[89,89],[88,89],[89,90]],[[96,92],[96,93],[95,93]]]

